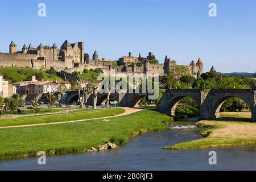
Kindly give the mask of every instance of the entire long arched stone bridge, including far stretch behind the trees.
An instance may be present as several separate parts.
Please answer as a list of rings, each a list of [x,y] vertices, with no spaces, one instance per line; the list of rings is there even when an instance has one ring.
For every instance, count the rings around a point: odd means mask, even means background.
[[[67,102],[78,99],[77,92],[67,92]],[[148,94],[137,93],[113,93],[110,97],[113,97],[115,101],[119,103],[121,107],[134,107],[138,102]],[[184,97],[191,97],[196,104],[200,107],[201,119],[214,119],[220,115],[220,108],[222,104],[230,97],[238,97],[245,101],[251,110],[251,117],[253,121],[256,121],[256,90],[254,89],[212,89],[209,91],[202,89],[167,89],[156,103],[158,111],[163,114],[175,115],[175,109],[179,101]],[[101,105],[107,98],[107,94],[98,94],[97,105]],[[93,105],[93,99],[91,95],[87,95],[86,99],[88,105]]]

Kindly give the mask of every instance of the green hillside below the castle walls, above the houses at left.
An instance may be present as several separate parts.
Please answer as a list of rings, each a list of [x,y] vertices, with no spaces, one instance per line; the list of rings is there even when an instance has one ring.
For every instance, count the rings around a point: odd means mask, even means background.
[[[62,80],[60,77],[56,76],[54,72],[49,74],[42,70],[32,68],[6,67],[0,68],[0,73],[3,75],[3,78],[9,80],[10,83],[31,80],[32,75],[36,75],[38,80]]]

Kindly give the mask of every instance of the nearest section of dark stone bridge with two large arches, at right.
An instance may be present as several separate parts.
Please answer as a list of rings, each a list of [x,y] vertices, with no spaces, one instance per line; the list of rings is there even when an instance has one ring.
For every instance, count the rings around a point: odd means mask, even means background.
[[[175,115],[176,106],[184,97],[193,98],[200,107],[201,119],[218,118],[222,104],[230,97],[238,97],[246,102],[253,121],[256,121],[256,90],[252,89],[212,89],[208,92],[201,89],[166,90],[158,102],[158,111]]]

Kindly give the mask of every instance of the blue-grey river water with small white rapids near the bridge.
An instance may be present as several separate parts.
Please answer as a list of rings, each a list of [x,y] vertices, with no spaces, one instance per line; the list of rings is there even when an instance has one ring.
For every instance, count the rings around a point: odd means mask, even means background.
[[[168,131],[141,135],[116,150],[48,156],[42,166],[37,158],[6,160],[0,162],[0,170],[256,170],[256,147],[163,150],[201,138],[199,129],[188,124],[175,123]],[[209,164],[209,151],[217,152],[217,165]]]

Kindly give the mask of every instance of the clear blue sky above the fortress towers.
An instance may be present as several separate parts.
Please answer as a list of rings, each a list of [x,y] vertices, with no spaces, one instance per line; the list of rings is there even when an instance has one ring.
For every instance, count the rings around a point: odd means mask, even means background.
[[[45,18],[38,16],[40,2]],[[210,2],[217,4],[215,18],[208,16]],[[152,51],[161,63],[165,55],[178,64],[201,57],[205,71],[256,71],[255,0],[2,0],[0,17],[1,52],[11,40],[21,49],[41,41],[60,47],[67,39],[108,60]]]

